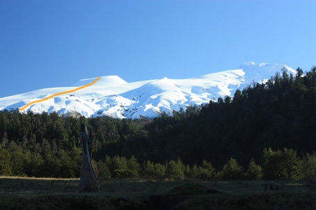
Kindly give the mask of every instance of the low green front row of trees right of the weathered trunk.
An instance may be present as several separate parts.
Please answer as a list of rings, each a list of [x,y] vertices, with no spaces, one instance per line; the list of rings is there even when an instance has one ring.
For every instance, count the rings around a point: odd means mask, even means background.
[[[306,180],[316,181],[316,154],[307,154],[303,159],[294,150],[271,150],[264,148],[263,165],[253,159],[246,168],[230,158],[221,170],[216,171],[212,163],[203,161],[201,165],[186,165],[180,158],[164,164],[144,161],[140,164],[131,159],[106,156],[95,163],[100,177],[104,178],[141,178],[141,179],[201,179],[201,180]]]

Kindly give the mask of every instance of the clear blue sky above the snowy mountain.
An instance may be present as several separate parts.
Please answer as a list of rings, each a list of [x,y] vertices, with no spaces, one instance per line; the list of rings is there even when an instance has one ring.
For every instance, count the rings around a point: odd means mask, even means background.
[[[314,0],[2,0],[0,97],[118,75],[187,79],[316,65]]]

